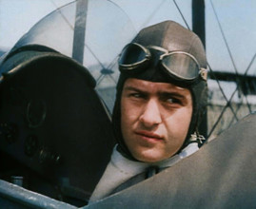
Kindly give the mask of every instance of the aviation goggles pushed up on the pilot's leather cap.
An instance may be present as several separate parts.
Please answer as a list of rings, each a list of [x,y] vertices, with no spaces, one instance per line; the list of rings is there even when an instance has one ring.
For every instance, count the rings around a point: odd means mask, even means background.
[[[124,73],[136,73],[147,70],[149,62],[152,60],[150,50],[160,51],[157,65],[160,65],[165,72],[175,80],[194,82],[198,78],[207,81],[207,69],[200,67],[194,56],[185,51],[167,51],[163,47],[144,47],[137,43],[128,44],[124,47],[119,57],[119,69]]]

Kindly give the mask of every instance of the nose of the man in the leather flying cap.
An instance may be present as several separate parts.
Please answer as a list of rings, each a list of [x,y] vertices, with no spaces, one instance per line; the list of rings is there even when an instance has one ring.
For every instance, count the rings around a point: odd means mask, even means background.
[[[162,122],[160,106],[157,103],[157,101],[148,101],[148,104],[146,104],[139,120],[146,127],[151,127],[152,125],[159,124]]]

